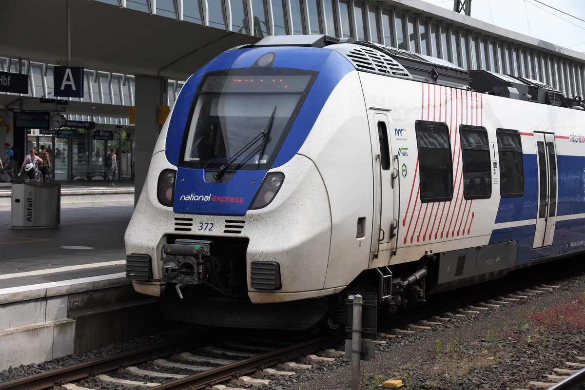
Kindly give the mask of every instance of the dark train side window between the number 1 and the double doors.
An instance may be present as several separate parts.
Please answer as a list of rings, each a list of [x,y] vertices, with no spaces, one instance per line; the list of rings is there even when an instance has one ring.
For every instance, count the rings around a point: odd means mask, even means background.
[[[524,195],[524,161],[518,130],[497,129],[500,156],[500,195]]]

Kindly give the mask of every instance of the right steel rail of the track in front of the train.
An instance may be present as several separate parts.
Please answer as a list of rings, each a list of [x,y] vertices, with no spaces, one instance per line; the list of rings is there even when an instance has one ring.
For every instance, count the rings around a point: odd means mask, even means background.
[[[254,356],[246,360],[236,361],[223,365],[222,367],[212,368],[212,370],[199,372],[189,377],[178,379],[177,381],[168,382],[159,386],[154,386],[152,390],[197,390],[205,388],[210,382],[226,382],[232,379],[234,375],[249,374],[258,370],[260,365],[276,365],[283,360],[291,360],[302,356],[305,353],[316,351],[324,346],[332,346],[339,344],[345,335],[329,335],[320,337],[319,339],[304,341],[294,346],[281,348],[269,353]]]

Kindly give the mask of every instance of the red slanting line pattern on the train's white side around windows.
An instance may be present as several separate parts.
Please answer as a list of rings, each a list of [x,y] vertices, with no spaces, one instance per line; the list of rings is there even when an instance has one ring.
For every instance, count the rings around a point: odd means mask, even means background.
[[[477,92],[439,85],[433,85],[431,88],[429,84],[421,84],[421,120],[443,122],[449,126],[453,152],[453,198],[448,202],[422,204],[419,197],[421,184],[417,157],[412,182],[407,185],[410,187],[410,194],[402,218],[402,226],[407,229],[402,243],[413,244],[444,237],[469,236],[475,212],[473,201],[463,198],[463,161],[458,134],[459,125],[483,126],[483,96]]]

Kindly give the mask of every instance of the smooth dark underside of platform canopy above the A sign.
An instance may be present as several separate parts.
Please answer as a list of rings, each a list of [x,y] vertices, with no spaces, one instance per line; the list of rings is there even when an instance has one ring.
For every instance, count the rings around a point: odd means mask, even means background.
[[[49,64],[67,60],[66,0],[1,3],[0,56]],[[223,50],[259,40],[99,1],[70,4],[71,59],[87,69],[185,80]]]

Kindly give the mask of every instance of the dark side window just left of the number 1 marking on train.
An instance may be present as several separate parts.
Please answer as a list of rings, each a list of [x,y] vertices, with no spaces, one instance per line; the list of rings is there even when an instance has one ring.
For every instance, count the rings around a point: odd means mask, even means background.
[[[459,126],[463,154],[463,197],[491,197],[490,145],[487,130],[479,126]]]

